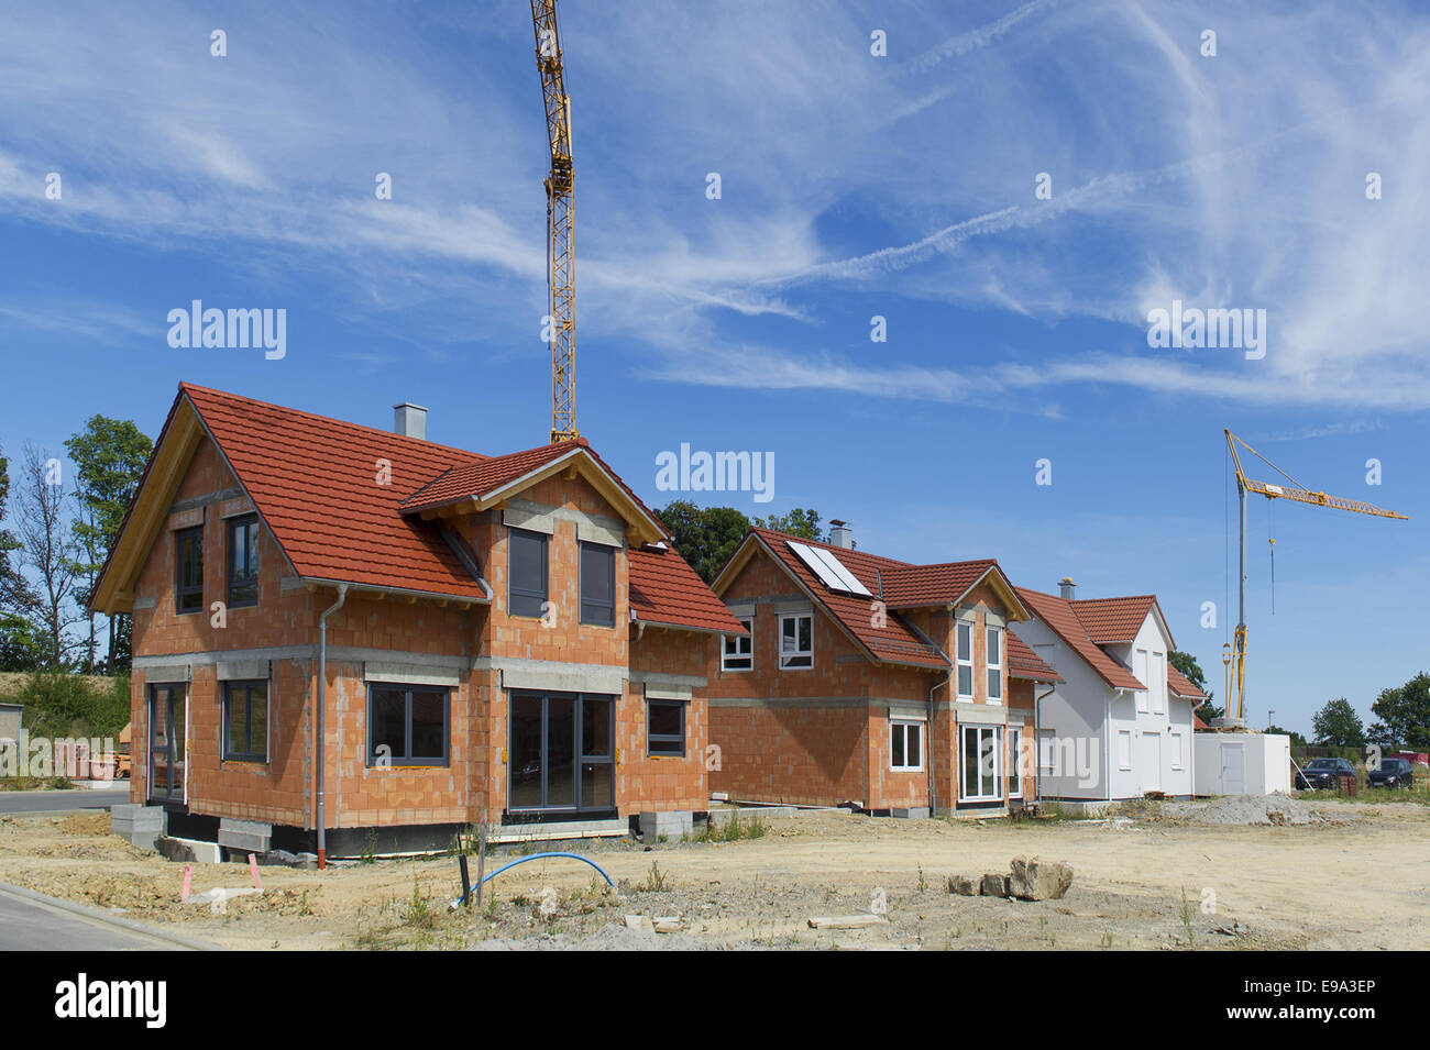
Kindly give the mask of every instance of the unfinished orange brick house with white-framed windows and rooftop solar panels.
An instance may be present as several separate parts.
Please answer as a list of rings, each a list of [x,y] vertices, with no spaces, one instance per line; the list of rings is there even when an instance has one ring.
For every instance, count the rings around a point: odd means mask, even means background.
[[[748,629],[709,679],[732,800],[985,816],[1035,791],[1031,613],[995,560],[915,566],[752,529],[714,590]]]

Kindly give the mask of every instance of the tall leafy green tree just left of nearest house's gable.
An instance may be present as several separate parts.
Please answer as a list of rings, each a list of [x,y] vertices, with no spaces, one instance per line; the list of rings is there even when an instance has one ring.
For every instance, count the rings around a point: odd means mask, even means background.
[[[83,580],[76,587],[74,599],[87,607],[99,583],[99,573],[104,567],[104,559],[119,537],[129,503],[139,490],[144,464],[154,446],[133,420],[96,414],[90,416],[84,430],[70,436],[64,447],[74,463],[76,514],[72,526],[77,551],[74,571]],[[87,614],[86,670],[93,670],[97,651],[96,613],[90,610]],[[116,657],[120,656],[116,651],[119,633],[123,630],[117,623],[119,619],[109,619],[109,644],[104,651],[110,671],[117,666]],[[126,661],[122,666],[129,664]]]

